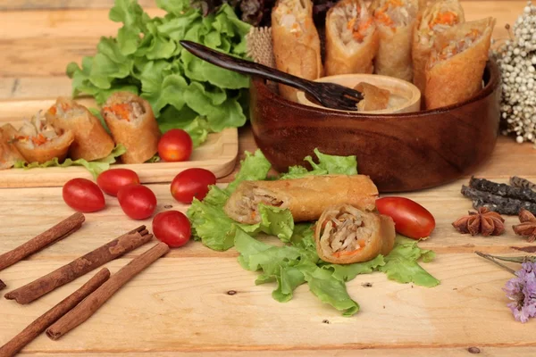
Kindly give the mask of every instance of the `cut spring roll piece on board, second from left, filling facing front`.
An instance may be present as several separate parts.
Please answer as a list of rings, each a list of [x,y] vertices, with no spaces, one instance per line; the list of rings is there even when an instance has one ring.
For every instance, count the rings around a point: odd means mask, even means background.
[[[38,112],[31,120],[25,121],[21,129],[11,131],[10,137],[13,145],[19,150],[26,162],[43,163],[58,158],[62,162],[69,146],[74,141],[71,130],[54,128],[54,125],[46,123]]]

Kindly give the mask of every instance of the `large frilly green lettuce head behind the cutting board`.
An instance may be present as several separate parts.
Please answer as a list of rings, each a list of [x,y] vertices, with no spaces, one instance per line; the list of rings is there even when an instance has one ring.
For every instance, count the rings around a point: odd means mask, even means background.
[[[162,131],[187,129],[196,145],[210,132],[244,125],[248,77],[198,59],[180,40],[247,59],[251,26],[230,4],[205,17],[188,0],[156,4],[167,12],[163,17],[151,18],[136,0],[115,0],[109,17],[122,23],[116,37],[102,37],[96,54],[84,57],[81,67],[67,66],[73,96],[92,95],[103,104],[115,91],[131,91],[151,104]],[[169,108],[180,115],[169,115]]]

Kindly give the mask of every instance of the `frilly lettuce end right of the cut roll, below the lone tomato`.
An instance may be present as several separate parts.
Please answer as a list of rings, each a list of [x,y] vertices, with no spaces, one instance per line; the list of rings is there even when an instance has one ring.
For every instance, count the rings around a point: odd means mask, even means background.
[[[418,241],[398,236],[395,247],[384,257],[385,265],[379,267],[387,277],[399,283],[415,283],[419,286],[437,286],[440,280],[423,270],[417,261],[431,262],[435,253],[419,248]]]

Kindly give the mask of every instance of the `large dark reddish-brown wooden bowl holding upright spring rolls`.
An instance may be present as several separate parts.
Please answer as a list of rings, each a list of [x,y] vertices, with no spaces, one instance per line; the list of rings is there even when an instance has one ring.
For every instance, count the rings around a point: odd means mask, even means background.
[[[255,142],[275,170],[305,165],[322,153],[356,155],[357,170],[381,192],[436,187],[470,175],[497,142],[500,74],[488,62],[484,87],[464,103],[423,112],[366,114],[289,102],[262,79],[252,79],[250,113]]]

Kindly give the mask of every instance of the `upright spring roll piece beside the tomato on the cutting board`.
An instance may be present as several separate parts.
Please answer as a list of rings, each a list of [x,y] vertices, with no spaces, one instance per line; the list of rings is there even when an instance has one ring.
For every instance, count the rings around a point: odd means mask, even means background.
[[[115,144],[127,149],[121,155],[122,162],[143,163],[156,154],[160,129],[145,99],[130,92],[115,92],[106,101],[102,114]]]

